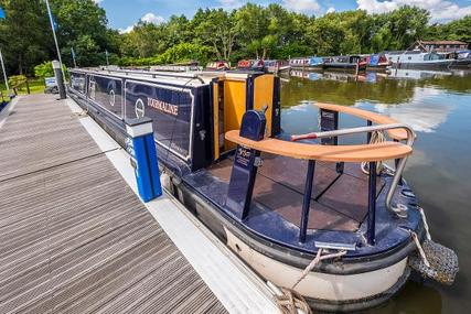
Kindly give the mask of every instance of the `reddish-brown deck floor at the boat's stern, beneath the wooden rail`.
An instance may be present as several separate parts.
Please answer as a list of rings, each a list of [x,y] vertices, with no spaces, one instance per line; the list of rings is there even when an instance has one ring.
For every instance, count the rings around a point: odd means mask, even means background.
[[[211,166],[207,173],[199,174],[210,174],[215,178],[213,184],[206,178],[200,190],[203,190],[203,194],[212,191],[212,195],[214,191],[220,191],[215,201],[221,206],[225,203],[232,167],[233,160],[226,159]],[[307,167],[308,162],[303,160],[264,154],[253,202],[299,227]],[[344,172],[340,174],[335,171],[335,163],[317,162],[308,228],[357,230],[367,214],[367,180],[357,163],[345,163]],[[225,184],[221,185],[222,182]],[[378,194],[384,185],[384,180],[378,177]]]

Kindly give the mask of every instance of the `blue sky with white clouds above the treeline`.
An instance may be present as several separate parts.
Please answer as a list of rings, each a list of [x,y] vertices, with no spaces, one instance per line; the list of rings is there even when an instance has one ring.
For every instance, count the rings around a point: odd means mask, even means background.
[[[191,18],[199,8],[232,10],[247,3],[244,0],[94,0],[103,7],[109,26],[121,32],[130,31],[139,21],[161,23],[172,14]],[[432,22],[448,22],[471,14],[471,0],[251,0],[267,6],[279,3],[288,10],[322,15],[331,11],[363,9],[370,13],[388,12],[404,4],[428,9]]]

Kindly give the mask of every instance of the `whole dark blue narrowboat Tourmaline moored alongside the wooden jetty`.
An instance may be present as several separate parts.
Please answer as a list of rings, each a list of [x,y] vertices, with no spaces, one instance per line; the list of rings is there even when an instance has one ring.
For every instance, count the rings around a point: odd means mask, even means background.
[[[124,148],[126,121],[151,118],[167,190],[260,277],[313,308],[375,306],[411,269],[453,281],[457,257],[429,239],[403,177],[416,137],[408,126],[315,104],[317,132],[285,133],[279,78],[259,72],[69,73],[71,97]],[[365,127],[339,129],[341,115]],[[349,134],[364,142],[340,144]]]

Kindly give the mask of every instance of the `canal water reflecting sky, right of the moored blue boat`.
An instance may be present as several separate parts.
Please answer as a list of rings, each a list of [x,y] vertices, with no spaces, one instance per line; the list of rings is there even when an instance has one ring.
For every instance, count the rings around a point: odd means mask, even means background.
[[[318,130],[315,102],[354,106],[410,124],[417,132],[405,178],[425,208],[432,239],[454,249],[452,286],[409,281],[393,300],[366,313],[469,313],[471,308],[471,72],[398,69],[390,75],[292,72],[282,76],[282,129]],[[364,126],[341,115],[340,127]],[[364,137],[343,138],[355,143]]]

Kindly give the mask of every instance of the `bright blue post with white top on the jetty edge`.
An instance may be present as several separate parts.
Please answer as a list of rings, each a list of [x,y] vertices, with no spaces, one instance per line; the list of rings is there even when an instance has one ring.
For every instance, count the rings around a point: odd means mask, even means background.
[[[152,119],[143,117],[126,120],[126,150],[131,155],[139,196],[143,202],[162,195]]]

